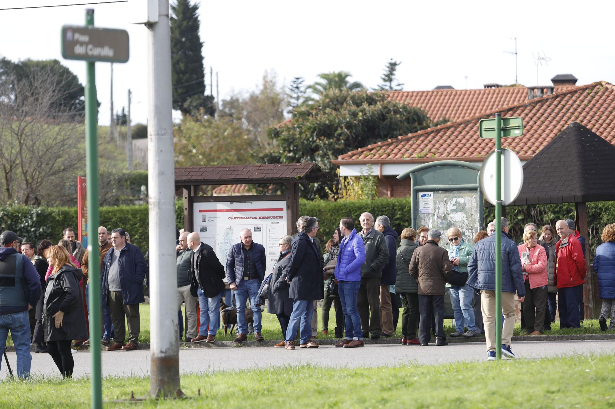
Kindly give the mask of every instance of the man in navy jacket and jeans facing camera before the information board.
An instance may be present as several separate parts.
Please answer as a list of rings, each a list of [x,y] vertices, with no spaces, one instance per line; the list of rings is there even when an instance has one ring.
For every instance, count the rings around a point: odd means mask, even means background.
[[[237,337],[235,342],[248,339],[248,324],[245,321],[245,304],[250,297],[250,308],[254,318],[254,338],[263,341],[261,334],[261,308],[256,306],[256,295],[265,278],[267,258],[265,247],[252,241],[252,230],[244,228],[239,238],[241,243],[233,244],[226,259],[226,281],[235,291],[237,302]]]

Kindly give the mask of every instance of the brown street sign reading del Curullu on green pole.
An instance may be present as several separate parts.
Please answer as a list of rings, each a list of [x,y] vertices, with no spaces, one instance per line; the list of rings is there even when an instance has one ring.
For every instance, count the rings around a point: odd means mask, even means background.
[[[67,60],[125,63],[129,53],[126,30],[62,26],[62,56]]]

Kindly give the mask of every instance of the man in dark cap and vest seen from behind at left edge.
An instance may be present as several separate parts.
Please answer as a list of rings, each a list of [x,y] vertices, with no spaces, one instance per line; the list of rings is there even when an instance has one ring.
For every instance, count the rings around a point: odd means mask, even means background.
[[[32,362],[28,311],[41,298],[41,278],[28,257],[18,253],[21,241],[14,232],[0,234],[0,351],[4,353],[10,330],[17,375],[27,378]]]

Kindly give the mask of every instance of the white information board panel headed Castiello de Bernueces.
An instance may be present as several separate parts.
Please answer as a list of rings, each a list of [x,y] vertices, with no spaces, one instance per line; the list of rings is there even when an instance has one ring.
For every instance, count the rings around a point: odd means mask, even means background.
[[[252,230],[252,240],[265,247],[267,265],[271,267],[280,255],[277,243],[280,237],[287,234],[286,202],[275,200],[194,203],[194,232],[199,233],[203,243],[213,247],[225,268],[231,246],[240,243],[239,235],[244,228]]]

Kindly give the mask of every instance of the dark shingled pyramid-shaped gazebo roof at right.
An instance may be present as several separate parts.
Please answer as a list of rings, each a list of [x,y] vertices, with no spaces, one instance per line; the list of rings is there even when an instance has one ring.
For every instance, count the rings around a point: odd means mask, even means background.
[[[509,206],[615,200],[615,146],[572,122],[523,165]]]

